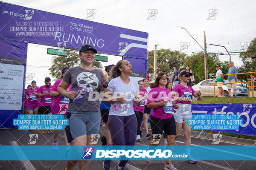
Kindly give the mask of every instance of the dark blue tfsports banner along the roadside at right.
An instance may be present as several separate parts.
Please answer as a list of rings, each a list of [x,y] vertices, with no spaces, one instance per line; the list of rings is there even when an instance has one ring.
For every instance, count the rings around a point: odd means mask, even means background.
[[[192,114],[193,115],[197,115],[197,114],[209,115],[209,118],[210,118],[210,115],[221,115],[221,114],[230,115],[230,116],[237,115],[238,116],[237,118],[242,119],[243,123],[241,123],[242,125],[239,125],[236,130],[217,130],[217,131],[256,136],[256,104],[193,103]],[[201,130],[204,130],[204,129],[201,129]],[[205,129],[205,130],[208,130],[208,129]]]

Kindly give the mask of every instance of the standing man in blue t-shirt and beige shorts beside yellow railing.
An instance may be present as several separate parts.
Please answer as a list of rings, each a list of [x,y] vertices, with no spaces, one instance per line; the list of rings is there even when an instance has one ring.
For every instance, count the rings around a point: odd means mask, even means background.
[[[228,69],[228,74],[236,74],[237,73],[237,68],[234,66],[234,62],[229,63],[230,68]],[[227,82],[236,82],[237,79],[237,74],[236,75],[229,75],[227,76]],[[236,97],[236,83],[234,84],[227,84],[227,90],[228,90],[228,96],[231,97],[231,88],[233,87],[233,97]]]

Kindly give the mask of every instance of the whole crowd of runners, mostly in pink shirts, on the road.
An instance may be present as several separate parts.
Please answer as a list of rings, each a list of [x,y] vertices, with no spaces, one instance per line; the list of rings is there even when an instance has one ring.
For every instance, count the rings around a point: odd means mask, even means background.
[[[61,79],[53,86],[49,77],[40,88],[33,80],[25,92],[24,114],[64,114],[69,119],[69,126],[64,130],[67,156],[79,152],[70,145],[91,145],[91,135],[99,133],[101,122],[106,127],[104,136],[100,137],[102,145],[135,145],[142,138],[151,140],[150,145],[159,145],[163,138],[166,145],[174,145],[183,128],[187,161],[196,163],[190,156],[191,126],[187,125],[187,119],[192,118],[192,96],[201,100],[201,94],[188,85],[192,72],[180,71],[174,76],[173,84],[168,74],[160,72],[154,83],[148,85],[148,79],[136,82],[129,77],[132,65],[127,60],[106,66],[107,74],[93,68],[96,53],[91,45],[83,45],[79,50],[81,65],[60,70]],[[91,99],[92,94],[98,98]],[[143,129],[145,136],[142,136]],[[47,132],[52,133],[48,129],[42,133]],[[58,150],[58,133],[53,131],[54,150]],[[124,170],[127,162],[120,161],[117,170]],[[65,170],[72,170],[76,163],[79,169],[87,169],[90,161],[67,161]],[[105,160],[103,169],[110,170],[110,167],[111,161]],[[177,170],[172,160],[166,161],[164,169]]]

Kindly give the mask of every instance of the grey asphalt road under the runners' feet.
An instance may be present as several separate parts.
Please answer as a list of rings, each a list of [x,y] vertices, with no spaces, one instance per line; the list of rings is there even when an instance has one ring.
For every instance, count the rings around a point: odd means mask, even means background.
[[[99,130],[100,136],[104,132],[105,127],[101,126]],[[35,145],[52,145],[53,134],[41,134],[39,130],[17,130],[17,129],[0,129],[1,145],[28,145],[29,134],[38,134]],[[143,130],[143,138],[137,145],[148,145],[150,140],[145,138]],[[59,145],[65,145],[64,132],[59,133]],[[163,138],[164,139],[164,138]],[[175,144],[183,145],[184,136],[181,135]],[[98,145],[101,141],[98,141]],[[161,145],[164,140],[161,140]],[[211,145],[212,140],[192,137],[192,144]],[[230,145],[227,142],[220,142],[220,145]],[[232,144],[233,145],[233,144]],[[210,154],[210,153],[209,153]],[[118,162],[111,163],[111,170],[116,170]],[[163,170],[165,161],[128,161],[125,170]],[[198,161],[197,164],[190,164],[185,161],[173,161],[178,170],[256,170],[256,161]],[[64,170],[66,161],[0,161],[0,170]],[[78,170],[78,164],[73,168]],[[102,170],[102,161],[91,161],[88,170]]]

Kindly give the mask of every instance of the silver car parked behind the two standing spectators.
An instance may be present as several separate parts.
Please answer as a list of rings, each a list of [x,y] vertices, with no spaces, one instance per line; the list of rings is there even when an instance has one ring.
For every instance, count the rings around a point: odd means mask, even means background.
[[[227,82],[227,80],[224,80],[224,82]],[[192,88],[194,90],[201,91],[202,96],[214,96],[213,79],[203,80],[199,82],[197,85],[193,85]],[[223,84],[222,88],[224,90],[224,95],[228,96],[227,84]],[[233,95],[233,88],[231,89],[231,95]],[[219,96],[219,91],[216,84],[215,84],[215,96]],[[247,88],[243,88],[236,85],[236,96],[249,96],[249,91]]]

